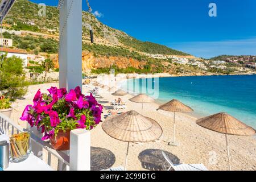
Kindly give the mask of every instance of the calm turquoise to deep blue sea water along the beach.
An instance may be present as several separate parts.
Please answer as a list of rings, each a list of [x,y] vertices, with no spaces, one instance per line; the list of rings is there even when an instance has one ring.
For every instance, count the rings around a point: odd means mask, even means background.
[[[142,86],[142,80],[124,82],[123,89],[147,93],[142,91],[148,87]],[[138,81],[140,86],[133,89]],[[152,84],[155,82],[153,78]],[[256,129],[256,75],[159,78],[157,101],[174,98],[191,106],[197,115],[226,112]]]

